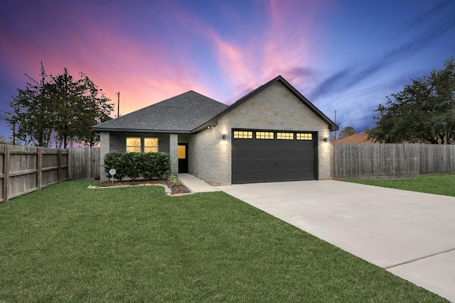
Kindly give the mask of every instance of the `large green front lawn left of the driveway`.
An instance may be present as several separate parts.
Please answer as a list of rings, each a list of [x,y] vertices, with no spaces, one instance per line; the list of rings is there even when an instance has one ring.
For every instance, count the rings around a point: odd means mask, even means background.
[[[0,302],[446,302],[223,192],[89,184],[0,204]]]

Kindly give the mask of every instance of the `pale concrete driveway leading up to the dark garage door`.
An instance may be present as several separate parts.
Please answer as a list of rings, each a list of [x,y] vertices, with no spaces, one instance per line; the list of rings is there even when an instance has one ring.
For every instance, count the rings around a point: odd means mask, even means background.
[[[455,197],[340,181],[217,188],[455,302]]]

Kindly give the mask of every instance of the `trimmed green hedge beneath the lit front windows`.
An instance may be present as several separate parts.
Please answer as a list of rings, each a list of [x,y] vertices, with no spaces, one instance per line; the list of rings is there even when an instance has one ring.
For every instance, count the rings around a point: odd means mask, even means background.
[[[162,178],[169,170],[168,153],[108,153],[105,155],[105,172],[114,168],[114,179],[124,177],[132,180]],[[110,175],[109,175],[110,177]]]

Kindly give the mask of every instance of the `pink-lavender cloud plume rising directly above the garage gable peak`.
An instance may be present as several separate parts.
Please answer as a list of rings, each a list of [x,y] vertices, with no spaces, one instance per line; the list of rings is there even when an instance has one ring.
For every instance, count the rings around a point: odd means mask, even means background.
[[[304,83],[307,74],[301,71],[309,66],[311,40],[317,33],[313,13],[320,8],[316,1],[270,0],[262,33],[246,44],[210,32],[218,62],[232,85],[254,89],[277,75]]]

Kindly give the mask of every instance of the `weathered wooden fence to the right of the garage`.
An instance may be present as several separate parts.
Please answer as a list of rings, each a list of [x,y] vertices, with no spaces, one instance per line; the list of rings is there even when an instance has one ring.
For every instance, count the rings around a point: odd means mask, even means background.
[[[455,145],[332,144],[334,178],[418,177],[454,171]]]

